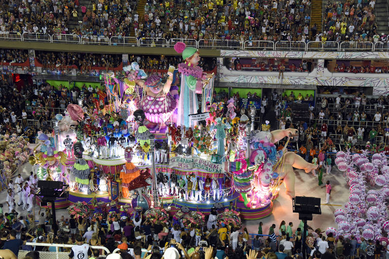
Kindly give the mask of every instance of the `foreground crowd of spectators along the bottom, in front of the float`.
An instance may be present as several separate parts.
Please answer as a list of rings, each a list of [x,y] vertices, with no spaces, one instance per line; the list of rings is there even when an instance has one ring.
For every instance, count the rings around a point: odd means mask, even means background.
[[[232,224],[215,226],[215,214],[217,210],[213,208],[205,218],[207,224],[191,224],[188,228],[173,219],[166,223],[150,221],[142,212],[121,218],[109,218],[105,212],[102,217],[92,214],[84,218],[62,215],[57,220],[58,234],[54,236],[50,210],[46,210],[46,213],[40,211],[36,221],[10,212],[0,218],[0,247],[9,249],[7,252],[16,256],[19,250],[27,250],[29,252],[25,258],[31,259],[42,257],[42,251],[55,251],[53,244],[56,243],[75,245],[72,248],[58,248],[68,252],[71,259],[79,258],[80,252],[84,256],[88,254],[89,258],[101,259],[160,259],[162,256],[169,259],[301,259],[302,252],[306,252],[310,259],[345,259],[373,258],[371,256],[374,255],[379,258],[386,252],[386,247],[380,245],[379,241],[357,240],[354,236],[334,237],[332,233],[325,235],[320,228],[314,230],[310,226],[307,226],[304,240],[302,221],[297,226],[293,222],[286,224],[282,221],[279,227],[271,224],[268,230],[260,222],[258,232],[249,234],[246,228]],[[26,245],[26,242],[43,245]],[[79,245],[83,245],[83,249],[79,249]],[[104,246],[109,253],[91,246]],[[4,252],[0,250],[0,255]]]

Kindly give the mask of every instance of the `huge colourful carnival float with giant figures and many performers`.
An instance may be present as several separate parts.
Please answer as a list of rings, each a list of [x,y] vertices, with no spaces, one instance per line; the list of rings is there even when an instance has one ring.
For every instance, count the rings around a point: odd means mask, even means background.
[[[240,225],[269,215],[282,183],[294,196],[293,167],[316,167],[277,150],[294,129],[254,130],[234,100],[213,102],[214,74],[198,66],[199,51],[182,42],[175,50],[183,62],[166,73],[146,74],[134,62],[122,76],[105,74],[93,107],[80,98],[57,114],[51,136],[38,137],[29,159],[35,172],[69,185],[56,208],[101,213],[108,204],[161,221],[224,211],[219,218]]]

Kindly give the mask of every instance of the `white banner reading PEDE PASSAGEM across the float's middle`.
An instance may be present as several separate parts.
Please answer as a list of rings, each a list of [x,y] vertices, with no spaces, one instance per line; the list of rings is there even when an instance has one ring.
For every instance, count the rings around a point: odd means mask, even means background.
[[[171,157],[169,167],[182,170],[203,171],[211,174],[224,174],[223,164],[216,164],[200,157]]]

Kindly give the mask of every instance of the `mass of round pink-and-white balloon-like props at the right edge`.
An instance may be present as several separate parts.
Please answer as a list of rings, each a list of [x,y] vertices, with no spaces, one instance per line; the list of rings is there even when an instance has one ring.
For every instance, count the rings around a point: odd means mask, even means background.
[[[343,172],[349,185],[350,195],[344,208],[334,211],[337,228],[330,227],[326,234],[342,235],[345,238],[354,235],[357,240],[380,240],[387,244],[387,238],[381,231],[389,233],[389,214],[386,212],[385,199],[389,198],[389,166],[384,154],[376,153],[369,157],[367,151],[351,154],[339,151],[335,164]],[[370,186],[382,187],[380,190],[368,190]]]

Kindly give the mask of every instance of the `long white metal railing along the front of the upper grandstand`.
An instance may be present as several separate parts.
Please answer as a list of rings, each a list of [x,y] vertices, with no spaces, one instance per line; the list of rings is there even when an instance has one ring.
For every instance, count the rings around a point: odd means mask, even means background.
[[[271,41],[271,40],[229,40],[229,39],[186,39],[186,38],[136,38],[102,35],[77,34],[44,34],[20,33],[14,31],[0,32],[0,40],[40,41],[66,44],[132,46],[132,47],[162,47],[173,48],[176,42],[184,42],[188,47],[202,49],[232,49],[232,50],[274,50],[274,51],[341,51],[341,52],[389,52],[387,42],[377,41]]]

